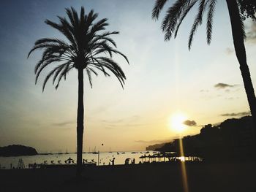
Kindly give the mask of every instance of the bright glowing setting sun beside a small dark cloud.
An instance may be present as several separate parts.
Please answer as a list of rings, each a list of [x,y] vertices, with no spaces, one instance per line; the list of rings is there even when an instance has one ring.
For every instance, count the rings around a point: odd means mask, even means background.
[[[184,125],[185,120],[187,120],[186,115],[180,112],[172,115],[170,117],[170,129],[177,133],[183,132],[187,128],[187,126]]]

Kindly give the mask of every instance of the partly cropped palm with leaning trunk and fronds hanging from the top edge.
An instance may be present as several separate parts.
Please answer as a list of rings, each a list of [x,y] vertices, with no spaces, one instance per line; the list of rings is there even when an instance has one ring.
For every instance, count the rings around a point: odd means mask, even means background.
[[[167,0],[156,0],[154,9],[152,11],[152,18],[158,19],[159,12],[165,6]],[[197,27],[202,24],[203,14],[207,12],[206,19],[206,34],[208,45],[211,43],[212,23],[214,16],[214,9],[217,4],[217,0],[176,0],[173,6],[167,9],[165,18],[162,20],[162,31],[165,33],[165,41],[170,40],[174,35],[177,36],[178,28],[181,26],[182,21],[186,17],[187,13],[199,3],[198,12],[195,16],[192,29],[189,34],[188,47],[189,50],[192,45],[192,40],[197,30]],[[249,72],[249,67],[246,63],[246,50],[244,47],[244,38],[246,34],[244,32],[244,14],[246,17],[255,19],[255,0],[226,0],[227,9],[230,15],[230,23],[233,34],[233,44],[236,51],[236,57],[240,64],[241,75],[244,81],[244,88],[246,91],[249,107],[252,114],[252,120],[254,124],[254,131],[256,134],[256,98],[255,91],[252,85],[252,80]],[[240,8],[240,9],[239,9]]]

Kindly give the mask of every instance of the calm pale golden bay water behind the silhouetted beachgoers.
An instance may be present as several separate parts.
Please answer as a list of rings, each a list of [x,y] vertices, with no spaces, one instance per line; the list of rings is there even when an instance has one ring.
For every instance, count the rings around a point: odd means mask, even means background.
[[[115,158],[115,164],[124,164],[124,161],[126,158],[135,158],[135,164],[138,164],[141,159],[139,158],[141,155],[144,155],[146,151],[141,152],[102,152],[99,153],[99,165],[108,165],[110,163],[110,160]],[[146,155],[153,155],[153,151],[148,151]],[[69,154],[52,154],[52,155],[33,155],[33,156],[18,156],[18,157],[0,157],[0,164],[1,169],[10,169],[10,164],[12,166],[18,166],[19,159],[22,158],[23,162],[28,168],[29,164],[43,164],[45,161],[47,164],[51,164],[51,161],[53,161],[54,164],[59,164],[58,161],[60,161],[61,164],[65,164],[64,161],[66,161],[68,158],[72,158],[76,162],[76,154],[75,153],[69,153]],[[83,153],[83,158],[86,159],[88,162],[94,161],[98,163],[98,154],[92,154],[92,153]],[[163,159],[162,159],[163,161]],[[129,161],[130,163],[130,161]]]

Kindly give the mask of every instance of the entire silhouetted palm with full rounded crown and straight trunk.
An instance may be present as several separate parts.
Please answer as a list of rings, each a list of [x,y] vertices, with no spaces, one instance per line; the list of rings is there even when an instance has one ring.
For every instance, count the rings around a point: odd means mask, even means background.
[[[97,76],[97,70],[99,70],[105,76],[110,76],[110,72],[112,72],[124,88],[125,74],[112,59],[112,55],[115,53],[123,56],[128,64],[129,61],[123,53],[116,50],[116,43],[110,38],[111,35],[118,34],[118,32],[105,31],[105,27],[108,26],[106,18],[96,22],[98,14],[91,10],[88,15],[85,15],[83,7],[80,9],[80,16],[73,7],[66,9],[66,13],[69,21],[58,16],[60,23],[53,23],[50,20],[45,20],[45,23],[56,28],[68,41],[56,38],[39,39],[34,43],[29,55],[34,50],[44,50],[42,58],[34,69],[36,83],[43,69],[50,64],[55,65],[45,77],[42,91],[50,77],[53,77],[53,85],[55,84],[57,89],[59,82],[63,79],[66,80],[68,72],[72,69],[78,70],[77,176],[80,177],[83,152],[83,72],[87,73],[91,87],[91,76],[92,74]],[[101,31],[104,32],[99,34]],[[56,63],[59,64],[56,65]]]

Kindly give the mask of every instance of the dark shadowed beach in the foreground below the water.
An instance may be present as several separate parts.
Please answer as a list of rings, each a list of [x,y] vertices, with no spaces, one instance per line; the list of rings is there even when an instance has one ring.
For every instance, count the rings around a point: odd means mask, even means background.
[[[255,162],[186,164],[189,191],[256,191]],[[0,191],[184,191],[181,164],[0,170]]]

